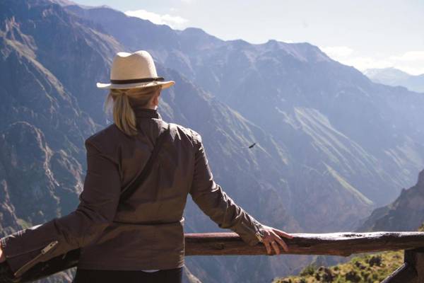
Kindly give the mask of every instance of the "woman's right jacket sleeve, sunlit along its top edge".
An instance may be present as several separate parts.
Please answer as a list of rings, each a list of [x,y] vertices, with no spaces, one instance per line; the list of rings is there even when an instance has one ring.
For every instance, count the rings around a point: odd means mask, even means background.
[[[194,132],[194,146],[196,147],[194,176],[190,188],[192,199],[220,228],[231,229],[249,246],[256,245],[259,240],[255,233],[261,229],[261,224],[215,183],[201,136],[196,132]]]

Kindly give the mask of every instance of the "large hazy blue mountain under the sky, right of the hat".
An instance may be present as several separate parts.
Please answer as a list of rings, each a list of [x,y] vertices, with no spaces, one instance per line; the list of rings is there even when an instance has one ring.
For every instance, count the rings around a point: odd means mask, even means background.
[[[66,10],[131,51],[148,50],[283,145],[289,210],[310,231],[351,229],[357,213],[393,200],[424,166],[423,96],[372,83],[313,45],[252,45],[110,8]],[[328,209],[329,203],[352,209]]]

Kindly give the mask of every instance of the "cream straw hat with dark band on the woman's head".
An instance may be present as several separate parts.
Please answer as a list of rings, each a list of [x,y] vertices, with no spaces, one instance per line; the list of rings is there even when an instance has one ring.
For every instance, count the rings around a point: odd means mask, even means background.
[[[175,81],[165,81],[156,74],[155,62],[146,50],[134,53],[119,52],[113,59],[110,83],[97,83],[98,88],[169,88]]]

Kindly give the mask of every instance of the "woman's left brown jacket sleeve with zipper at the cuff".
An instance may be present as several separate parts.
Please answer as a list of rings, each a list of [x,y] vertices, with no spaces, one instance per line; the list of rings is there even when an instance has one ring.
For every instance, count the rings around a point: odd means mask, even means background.
[[[121,192],[117,163],[86,140],[87,173],[80,204],[74,212],[1,238],[13,272],[88,245],[113,221]]]

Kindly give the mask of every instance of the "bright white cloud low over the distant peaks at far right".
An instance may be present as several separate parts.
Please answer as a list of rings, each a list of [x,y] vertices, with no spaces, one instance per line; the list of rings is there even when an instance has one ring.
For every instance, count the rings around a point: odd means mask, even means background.
[[[347,46],[327,46],[319,47],[332,59],[353,66],[360,71],[365,69],[382,69],[394,67],[409,74],[424,74],[424,51],[415,50],[396,54],[389,57],[369,57],[358,54],[355,50]]]

